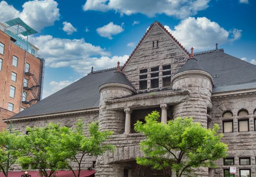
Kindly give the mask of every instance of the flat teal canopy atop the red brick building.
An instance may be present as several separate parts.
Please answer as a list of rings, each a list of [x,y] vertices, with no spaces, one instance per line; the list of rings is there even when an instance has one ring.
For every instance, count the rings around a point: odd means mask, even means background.
[[[25,22],[23,22],[20,18],[15,18],[5,22],[9,26],[7,28],[12,28],[13,32],[18,34],[22,34],[23,36],[28,36],[31,34],[38,33],[33,28],[28,26]]]

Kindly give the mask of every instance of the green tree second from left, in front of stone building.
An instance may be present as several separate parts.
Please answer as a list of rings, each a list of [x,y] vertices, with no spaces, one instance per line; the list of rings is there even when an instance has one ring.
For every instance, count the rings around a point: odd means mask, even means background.
[[[28,169],[38,169],[45,177],[53,176],[55,171],[65,166],[63,148],[60,145],[61,134],[69,129],[59,124],[49,123],[46,127],[26,128],[24,150],[29,154],[18,159],[19,164]]]

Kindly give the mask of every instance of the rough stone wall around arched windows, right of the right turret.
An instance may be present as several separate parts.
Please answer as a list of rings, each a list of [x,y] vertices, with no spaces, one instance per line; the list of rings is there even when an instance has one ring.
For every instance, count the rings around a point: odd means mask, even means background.
[[[238,116],[238,111],[246,109],[248,116]],[[223,133],[223,142],[228,144],[228,157],[234,157],[236,176],[239,176],[239,168],[250,168],[251,176],[255,177],[255,154],[256,154],[256,131],[254,129],[254,110],[256,109],[256,95],[233,95],[228,97],[213,97],[212,120],[220,125],[220,132],[223,132],[223,121],[233,120],[233,131]],[[233,117],[223,118],[225,111],[231,111]],[[249,119],[249,131],[238,132],[238,120]],[[250,165],[239,165],[239,157],[250,157]],[[218,168],[214,170],[214,176],[224,176],[223,169],[229,166],[224,165],[223,159],[216,161]]]

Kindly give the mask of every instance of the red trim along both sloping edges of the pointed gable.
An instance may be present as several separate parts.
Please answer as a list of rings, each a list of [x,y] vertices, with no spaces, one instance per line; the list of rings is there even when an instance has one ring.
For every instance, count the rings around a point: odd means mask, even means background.
[[[154,24],[158,24],[173,40],[174,42],[188,55],[190,56],[190,53],[179,43],[179,41],[169,32],[167,31],[167,29],[158,21],[155,21],[154,23],[152,23],[150,25],[150,28],[147,30],[147,32],[143,35],[143,37],[140,39],[139,43],[137,44],[136,48],[133,50],[133,52],[131,53],[131,55],[129,56],[129,58],[127,59],[127,61],[125,62],[125,64],[122,66],[123,70],[125,68],[125,66],[129,63],[129,61],[131,60],[131,58],[133,57],[133,55],[135,54],[135,52],[137,51],[137,49],[139,48],[139,46],[141,45],[142,41],[145,39],[145,37],[149,34],[149,32],[151,31],[151,29],[153,28]]]

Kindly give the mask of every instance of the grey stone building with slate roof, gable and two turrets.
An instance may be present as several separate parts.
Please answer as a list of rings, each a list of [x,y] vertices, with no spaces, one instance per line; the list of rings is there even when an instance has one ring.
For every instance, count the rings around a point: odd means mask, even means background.
[[[193,45],[193,44],[191,44]],[[91,71],[41,102],[14,115],[16,129],[59,122],[72,126],[98,120],[113,130],[109,142],[117,149],[96,159],[96,176],[170,176],[169,170],[137,165],[144,139],[133,130],[136,120],[158,110],[162,121],[193,116],[204,127],[220,125],[228,144],[226,159],[216,169],[196,169],[198,176],[255,177],[256,66],[223,49],[191,54],[159,23],[153,23],[127,62],[117,68]],[[84,168],[95,159],[86,158]],[[225,175],[226,173],[226,175]],[[233,176],[233,175],[230,175]]]

